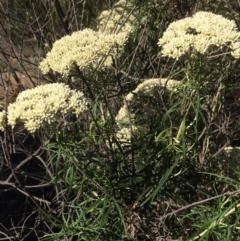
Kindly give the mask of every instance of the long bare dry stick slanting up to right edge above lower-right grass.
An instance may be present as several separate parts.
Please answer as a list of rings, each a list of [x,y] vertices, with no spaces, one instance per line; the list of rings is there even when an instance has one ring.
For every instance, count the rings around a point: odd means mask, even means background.
[[[178,210],[175,210],[175,211],[172,211],[171,213],[168,213],[166,215],[164,215],[163,217],[159,218],[160,221],[162,221],[163,219],[166,219],[167,217],[171,217],[172,215],[175,215],[183,210],[186,210],[188,208],[191,208],[191,207],[194,207],[194,206],[197,206],[199,204],[203,204],[203,203],[206,203],[206,202],[209,202],[211,200],[214,200],[214,199],[218,199],[218,198],[221,198],[221,197],[226,197],[226,196],[234,196],[236,194],[239,194],[240,191],[233,191],[233,192],[226,192],[226,193],[223,193],[223,194],[220,194],[220,195],[217,195],[215,197],[210,197],[210,198],[207,198],[207,199],[204,199],[204,200],[201,200],[201,201],[198,201],[198,202],[194,202],[194,203],[191,203],[187,206],[184,206],[184,207],[181,207],[179,208]]]

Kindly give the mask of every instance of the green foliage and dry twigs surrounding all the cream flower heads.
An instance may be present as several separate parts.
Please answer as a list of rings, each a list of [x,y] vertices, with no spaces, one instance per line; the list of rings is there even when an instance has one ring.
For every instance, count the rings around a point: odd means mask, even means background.
[[[57,39],[96,29],[115,2],[0,3],[1,76],[65,82],[90,102],[80,121],[64,116],[35,135],[22,125],[1,133],[1,240],[239,240],[239,60],[176,62],[157,46],[171,22],[200,10],[240,27],[239,2],[134,0],[134,31],[112,69],[79,73],[74,83],[40,72]],[[141,129],[124,145],[114,118],[124,96],[161,77],[179,80],[178,87],[139,96],[133,111]],[[16,81],[12,101],[25,89]]]

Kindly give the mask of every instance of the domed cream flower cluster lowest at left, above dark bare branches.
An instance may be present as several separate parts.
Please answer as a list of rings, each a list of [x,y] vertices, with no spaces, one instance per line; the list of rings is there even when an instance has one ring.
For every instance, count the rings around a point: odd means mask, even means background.
[[[21,92],[8,106],[8,124],[24,123],[34,133],[44,124],[51,124],[62,114],[77,116],[87,109],[87,100],[80,91],[71,90],[66,84],[54,83],[37,86]]]

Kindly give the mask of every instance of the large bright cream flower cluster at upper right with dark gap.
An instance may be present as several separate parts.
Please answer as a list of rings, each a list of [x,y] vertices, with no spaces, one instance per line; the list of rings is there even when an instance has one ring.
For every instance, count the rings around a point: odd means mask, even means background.
[[[234,58],[240,58],[240,33],[234,21],[211,12],[175,21],[159,39],[163,56],[178,59],[189,50],[207,53],[210,46],[230,47]]]

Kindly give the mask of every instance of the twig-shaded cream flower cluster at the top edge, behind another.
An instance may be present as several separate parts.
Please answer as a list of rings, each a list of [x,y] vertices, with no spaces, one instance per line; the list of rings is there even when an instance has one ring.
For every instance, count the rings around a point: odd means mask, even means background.
[[[104,33],[130,32],[135,20],[131,2],[120,0],[98,17],[98,30]]]

